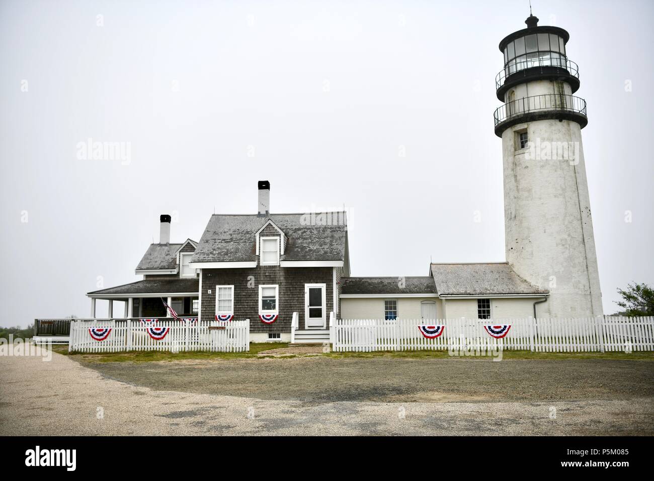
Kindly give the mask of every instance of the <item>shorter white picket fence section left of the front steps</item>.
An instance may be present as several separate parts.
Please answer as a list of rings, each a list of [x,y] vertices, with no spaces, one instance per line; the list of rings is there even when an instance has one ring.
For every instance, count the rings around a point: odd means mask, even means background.
[[[139,319],[75,321],[71,323],[70,352],[102,353],[121,351],[219,351],[250,350],[250,320],[196,321],[186,323],[175,319],[159,319],[152,327],[167,327],[163,339],[154,339],[148,325]],[[92,338],[89,329],[111,328],[104,340]],[[210,329],[213,328],[213,329]],[[217,328],[217,329],[216,329]]]

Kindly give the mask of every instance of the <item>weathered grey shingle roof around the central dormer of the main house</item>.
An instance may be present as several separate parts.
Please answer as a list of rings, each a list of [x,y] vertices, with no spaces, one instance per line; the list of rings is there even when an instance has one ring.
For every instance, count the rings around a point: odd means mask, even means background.
[[[345,212],[320,214],[214,214],[191,262],[247,262],[257,260],[256,232],[271,220],[287,236],[281,260],[345,260]],[[326,219],[323,223],[322,219]]]

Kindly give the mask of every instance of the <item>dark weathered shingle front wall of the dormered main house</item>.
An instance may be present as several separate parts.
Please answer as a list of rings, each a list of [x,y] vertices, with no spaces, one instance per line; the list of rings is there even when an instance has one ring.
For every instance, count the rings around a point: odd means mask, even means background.
[[[252,276],[250,278],[250,276]],[[326,319],[334,310],[334,287],[331,267],[259,266],[251,269],[203,269],[203,321],[213,321],[216,313],[216,285],[234,286],[234,319],[250,319],[250,332],[290,332],[294,312],[300,315],[300,329],[304,329],[304,285],[326,285]],[[259,286],[279,285],[279,317],[272,324],[259,319]],[[250,285],[250,287],[249,287]],[[211,289],[211,294],[207,291]]]

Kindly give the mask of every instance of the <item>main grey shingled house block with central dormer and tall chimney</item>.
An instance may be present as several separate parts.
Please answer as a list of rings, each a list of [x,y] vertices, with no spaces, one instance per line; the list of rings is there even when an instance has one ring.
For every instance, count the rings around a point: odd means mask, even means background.
[[[200,278],[200,317],[250,319],[253,342],[328,340],[330,312],[339,311],[340,279],[349,276],[345,212],[271,214],[270,185],[258,183],[252,215],[215,214],[191,265]]]

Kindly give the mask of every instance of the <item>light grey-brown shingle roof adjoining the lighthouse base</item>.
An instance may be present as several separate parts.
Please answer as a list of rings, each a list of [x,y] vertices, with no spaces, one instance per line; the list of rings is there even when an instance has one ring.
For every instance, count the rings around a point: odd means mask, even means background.
[[[440,296],[547,294],[518,276],[508,262],[431,264]]]

